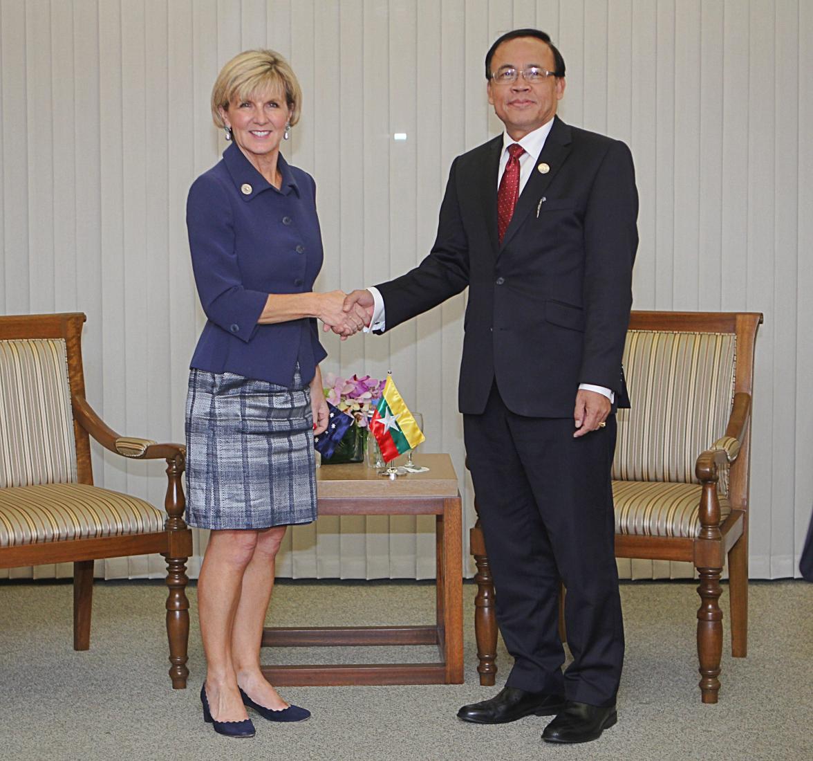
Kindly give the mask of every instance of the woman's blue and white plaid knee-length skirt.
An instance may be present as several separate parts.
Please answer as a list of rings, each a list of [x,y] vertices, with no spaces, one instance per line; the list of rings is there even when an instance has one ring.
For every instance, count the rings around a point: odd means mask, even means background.
[[[311,391],[193,369],[186,398],[186,522],[262,529],[316,518]]]

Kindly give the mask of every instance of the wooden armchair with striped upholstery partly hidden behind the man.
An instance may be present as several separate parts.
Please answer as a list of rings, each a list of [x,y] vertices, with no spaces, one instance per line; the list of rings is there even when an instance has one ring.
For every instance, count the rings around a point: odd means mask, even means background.
[[[618,413],[615,555],[695,566],[705,703],[717,702],[720,690],[726,558],[732,655],[747,651],[749,423],[761,322],[759,313],[633,312],[624,348],[632,407]],[[495,593],[479,521],[471,551],[477,671],[480,684],[490,685],[497,672]]]

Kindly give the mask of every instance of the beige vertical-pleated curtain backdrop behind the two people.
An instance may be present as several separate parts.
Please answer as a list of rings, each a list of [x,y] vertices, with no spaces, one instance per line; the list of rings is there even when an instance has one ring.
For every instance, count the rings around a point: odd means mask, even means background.
[[[185,196],[225,147],[209,116],[220,66],[256,46],[289,57],[305,101],[284,152],[318,185],[317,286],[350,290],[402,273],[432,245],[451,161],[501,127],[485,98],[485,50],[523,26],[563,51],[563,118],[632,147],[635,306],[765,313],[750,567],[757,578],[794,575],[813,503],[807,0],[0,0],[0,312],[87,313],[89,400],[122,433],[183,440],[203,321]],[[468,527],[456,405],[463,307],[460,296],[385,337],[328,336],[324,370],[393,371],[424,413],[427,451],[454,460]],[[97,483],[163,504],[161,466],[98,448],[94,457]],[[205,544],[197,531],[190,575]],[[433,550],[431,518],[323,518],[289,532],[279,568],[426,578]],[[667,562],[620,570],[690,573]],[[159,577],[163,562],[97,571]]]

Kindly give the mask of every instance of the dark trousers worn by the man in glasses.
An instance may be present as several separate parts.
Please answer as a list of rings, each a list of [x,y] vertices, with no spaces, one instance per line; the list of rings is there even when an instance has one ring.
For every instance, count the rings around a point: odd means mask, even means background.
[[[506,684],[615,704],[624,660],[610,483],[615,415],[574,438],[573,418],[512,413],[494,383],[485,412],[464,415],[463,428],[497,619],[515,658]],[[560,579],[574,658],[564,674]]]

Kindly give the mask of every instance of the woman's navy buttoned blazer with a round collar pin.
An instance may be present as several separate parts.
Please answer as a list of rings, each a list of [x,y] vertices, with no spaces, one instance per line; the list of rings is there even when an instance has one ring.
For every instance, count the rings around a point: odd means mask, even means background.
[[[277,190],[234,144],[186,202],[192,269],[208,317],[190,366],[290,387],[327,356],[314,318],[258,325],[268,294],[313,290],[323,251],[313,177],[280,154]]]

